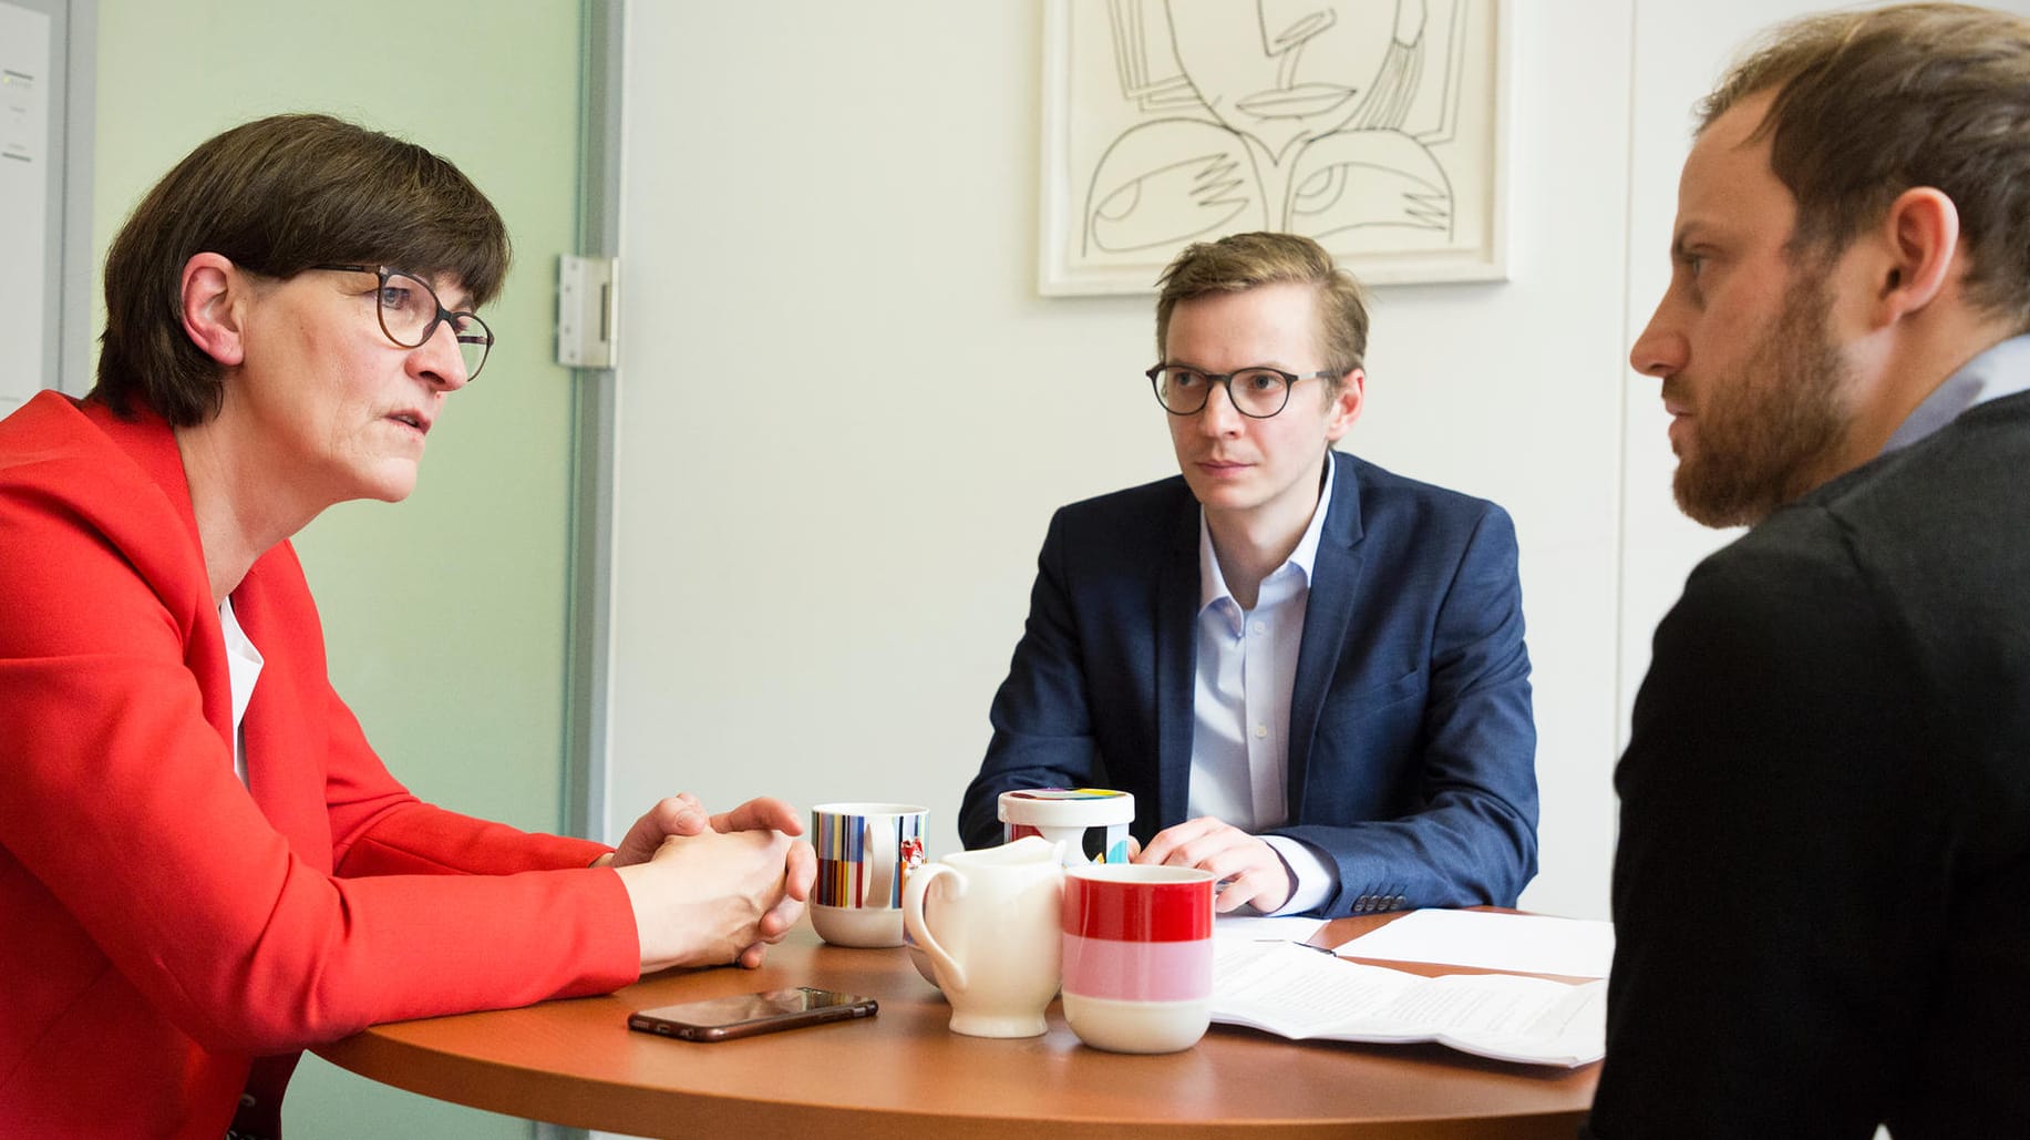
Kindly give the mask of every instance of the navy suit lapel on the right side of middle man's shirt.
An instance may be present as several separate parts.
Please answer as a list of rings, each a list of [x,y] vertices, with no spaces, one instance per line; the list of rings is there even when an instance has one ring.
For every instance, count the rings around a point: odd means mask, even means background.
[[[1360,595],[1360,480],[1354,457],[1334,453],[1332,506],[1317,536],[1311,591],[1303,610],[1303,642],[1297,648],[1297,681],[1289,695],[1289,821],[1303,819],[1303,786],[1311,762],[1311,740],[1326,689],[1346,646],[1346,628]]]

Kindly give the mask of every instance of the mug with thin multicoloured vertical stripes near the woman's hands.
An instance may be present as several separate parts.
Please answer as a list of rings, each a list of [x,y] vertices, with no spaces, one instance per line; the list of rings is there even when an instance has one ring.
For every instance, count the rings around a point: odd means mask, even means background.
[[[901,945],[901,888],[924,864],[924,815],[913,803],[820,803],[810,809],[818,882],[810,925],[842,947]]]

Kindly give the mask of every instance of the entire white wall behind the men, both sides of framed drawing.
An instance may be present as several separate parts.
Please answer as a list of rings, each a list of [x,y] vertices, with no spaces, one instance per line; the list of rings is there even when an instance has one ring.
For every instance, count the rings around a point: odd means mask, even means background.
[[[1626,352],[1689,106],[1786,8],[1512,0],[1510,280],[1374,291],[1346,445],[1516,518],[1531,908],[1606,916],[1648,630],[1725,539]],[[1039,53],[1033,2],[629,6],[609,827],[913,799],[954,849],[1050,512],[1173,471],[1151,301],[1035,291]]]

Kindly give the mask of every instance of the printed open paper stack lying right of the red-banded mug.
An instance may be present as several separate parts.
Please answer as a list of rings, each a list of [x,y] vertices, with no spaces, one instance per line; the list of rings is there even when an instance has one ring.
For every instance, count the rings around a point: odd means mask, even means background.
[[[1577,1067],[1606,1053],[1608,984],[1421,977],[1291,943],[1216,939],[1212,1020],[1293,1040],[1435,1040],[1496,1061]]]

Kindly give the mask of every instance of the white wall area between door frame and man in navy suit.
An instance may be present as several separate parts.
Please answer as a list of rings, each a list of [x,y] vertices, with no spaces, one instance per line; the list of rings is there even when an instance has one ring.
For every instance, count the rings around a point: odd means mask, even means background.
[[[1050,510],[1169,465],[1147,305],[1035,293],[1039,39],[629,6],[615,825],[911,799],[956,849]]]

